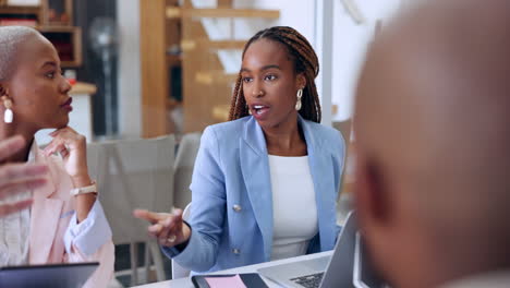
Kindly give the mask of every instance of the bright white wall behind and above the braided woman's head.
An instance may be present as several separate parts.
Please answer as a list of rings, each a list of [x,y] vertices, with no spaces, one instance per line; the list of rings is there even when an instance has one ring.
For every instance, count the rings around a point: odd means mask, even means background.
[[[211,1],[211,0],[209,0]],[[387,20],[400,7],[402,0],[354,0],[360,11],[366,19],[362,25],[357,25],[345,12],[340,0],[333,1],[333,47],[332,56],[325,56],[321,59],[321,31],[320,27],[323,13],[316,11],[320,8],[320,0],[236,0],[236,8],[257,8],[257,9],[277,9],[280,10],[280,19],[276,22],[266,22],[265,26],[286,25],[292,26],[302,33],[317,50],[320,64],[324,61],[332,61],[331,77],[331,101],[337,105],[338,112],[333,115],[333,120],[341,121],[350,118],[354,98],[355,83],[359,71],[364,59],[367,44],[372,40],[375,23],[377,20]],[[410,1],[410,0],[405,0]],[[214,1],[211,1],[214,2]],[[247,21],[239,21],[235,24],[236,29],[242,29],[245,34],[254,34],[260,27],[254,28],[254,24]],[[239,37],[239,35],[236,35]],[[244,35],[244,38],[246,35]],[[317,77],[317,87],[319,95],[323,91],[323,73]],[[330,109],[323,107],[323,109]]]

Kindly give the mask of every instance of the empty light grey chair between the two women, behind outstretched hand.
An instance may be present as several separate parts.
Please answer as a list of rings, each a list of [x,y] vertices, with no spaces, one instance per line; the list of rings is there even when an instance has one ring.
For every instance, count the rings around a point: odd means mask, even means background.
[[[87,145],[89,173],[97,181],[99,200],[113,231],[113,243],[130,244],[131,285],[138,284],[138,242],[146,243],[145,280],[150,257],[158,281],[166,278],[159,245],[148,239],[147,223],[135,219],[133,209],[170,212],[174,151],[173,135]]]

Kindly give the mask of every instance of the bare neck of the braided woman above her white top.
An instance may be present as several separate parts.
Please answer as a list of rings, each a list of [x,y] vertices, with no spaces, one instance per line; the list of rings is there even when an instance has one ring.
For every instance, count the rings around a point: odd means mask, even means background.
[[[277,156],[304,156],[306,143],[300,132],[298,120],[283,125],[264,129],[267,152]]]

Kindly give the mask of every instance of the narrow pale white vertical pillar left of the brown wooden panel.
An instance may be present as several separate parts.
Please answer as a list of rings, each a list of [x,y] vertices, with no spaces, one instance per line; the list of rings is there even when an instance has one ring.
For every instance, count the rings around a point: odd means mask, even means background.
[[[138,0],[117,0],[119,23],[119,133],[123,137],[142,134],[142,91],[139,63]]]

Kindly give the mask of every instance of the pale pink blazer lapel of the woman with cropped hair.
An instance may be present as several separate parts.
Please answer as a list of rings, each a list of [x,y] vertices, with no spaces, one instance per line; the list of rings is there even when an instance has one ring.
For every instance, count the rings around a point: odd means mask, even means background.
[[[34,149],[33,149],[34,151]],[[36,147],[35,161],[46,164],[49,167],[48,183],[34,191],[34,203],[31,211],[31,235],[29,235],[29,263],[47,263],[58,229],[63,201],[50,199],[57,191],[56,181],[59,176],[57,165],[51,163]]]

